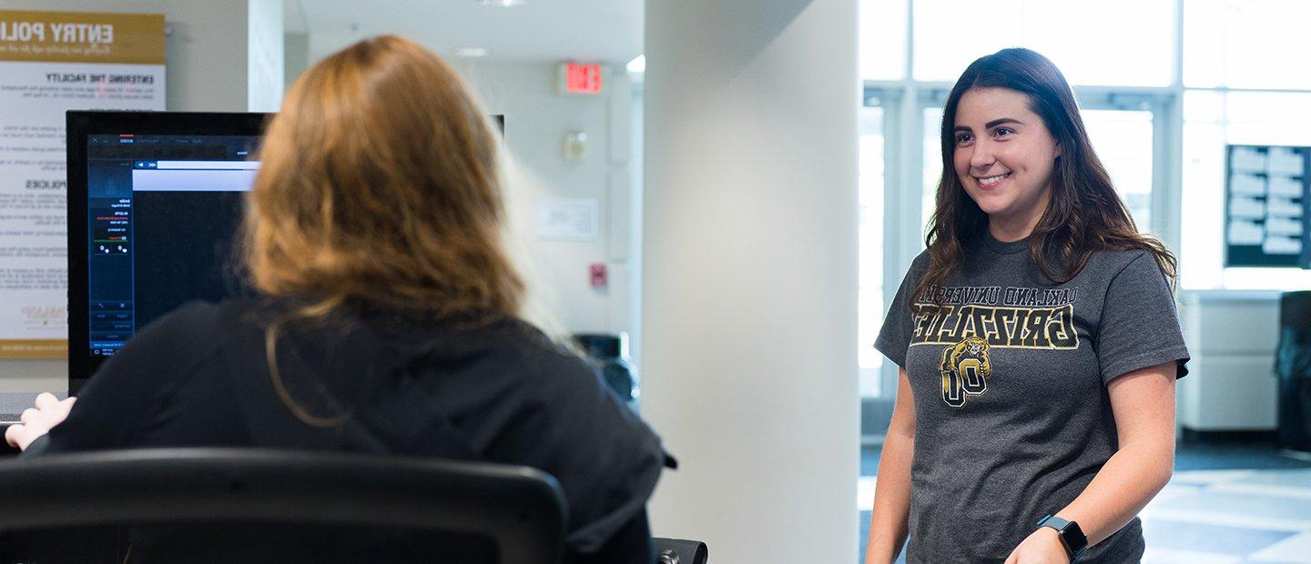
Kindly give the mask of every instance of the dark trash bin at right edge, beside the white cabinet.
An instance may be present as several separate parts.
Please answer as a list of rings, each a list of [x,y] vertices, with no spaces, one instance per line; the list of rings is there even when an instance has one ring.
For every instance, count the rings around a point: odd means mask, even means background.
[[[1311,292],[1280,296],[1274,372],[1280,378],[1278,446],[1311,451]]]

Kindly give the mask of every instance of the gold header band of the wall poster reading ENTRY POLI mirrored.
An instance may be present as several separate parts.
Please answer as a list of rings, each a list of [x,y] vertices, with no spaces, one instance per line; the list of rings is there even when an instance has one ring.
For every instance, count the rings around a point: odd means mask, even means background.
[[[0,10],[0,60],[164,64],[164,14]]]

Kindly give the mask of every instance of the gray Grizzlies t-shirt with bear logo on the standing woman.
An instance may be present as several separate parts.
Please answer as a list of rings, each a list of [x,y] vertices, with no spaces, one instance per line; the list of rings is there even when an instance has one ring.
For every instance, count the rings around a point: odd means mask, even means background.
[[[1181,378],[1188,349],[1146,251],[1095,253],[1074,280],[1053,284],[1027,241],[985,234],[912,311],[927,270],[926,251],[874,343],[906,369],[915,400],[906,560],[1000,563],[1116,453],[1106,385],[1172,360]],[[945,293],[939,313],[926,305],[931,292]],[[1143,550],[1135,517],[1079,563],[1138,561]]]

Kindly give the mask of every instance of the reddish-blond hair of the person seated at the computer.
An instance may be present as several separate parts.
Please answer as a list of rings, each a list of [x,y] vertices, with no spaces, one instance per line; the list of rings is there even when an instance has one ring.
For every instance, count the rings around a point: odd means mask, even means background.
[[[414,42],[358,42],[305,71],[260,148],[243,262],[264,294],[299,308],[267,328],[347,304],[422,317],[519,317],[520,275],[502,246],[498,140],[459,76]]]

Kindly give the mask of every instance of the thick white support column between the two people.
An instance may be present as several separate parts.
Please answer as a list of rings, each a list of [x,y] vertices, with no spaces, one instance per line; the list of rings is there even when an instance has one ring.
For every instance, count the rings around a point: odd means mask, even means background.
[[[646,3],[653,529],[716,560],[856,561],[856,12]]]

